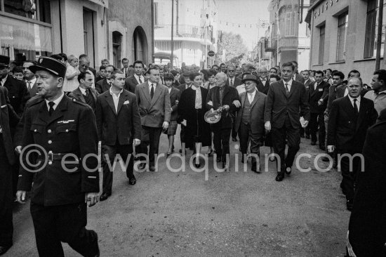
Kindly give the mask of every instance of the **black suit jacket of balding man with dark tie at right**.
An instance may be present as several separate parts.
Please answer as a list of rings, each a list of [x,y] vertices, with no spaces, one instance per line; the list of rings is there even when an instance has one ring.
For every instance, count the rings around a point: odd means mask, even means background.
[[[335,145],[339,152],[361,152],[366,131],[377,117],[372,100],[361,97],[357,122],[348,95],[333,101],[328,115],[327,145]]]

